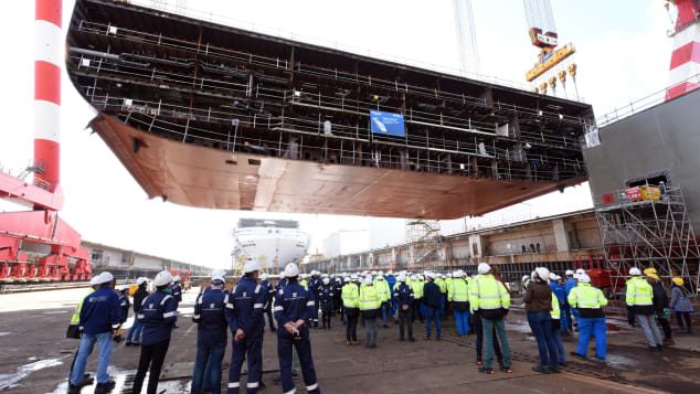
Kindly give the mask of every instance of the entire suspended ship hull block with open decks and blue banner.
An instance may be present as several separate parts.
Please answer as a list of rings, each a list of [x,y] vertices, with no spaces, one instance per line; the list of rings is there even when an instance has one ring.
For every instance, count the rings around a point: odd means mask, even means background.
[[[456,219],[587,177],[584,103],[128,2],[78,0],[67,46],[92,128],[150,198]]]

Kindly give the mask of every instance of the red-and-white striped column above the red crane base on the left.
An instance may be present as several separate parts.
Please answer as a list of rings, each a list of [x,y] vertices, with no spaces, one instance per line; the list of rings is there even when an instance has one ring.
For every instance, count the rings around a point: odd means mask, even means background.
[[[55,192],[61,163],[61,32],[63,0],[35,0],[34,184]]]

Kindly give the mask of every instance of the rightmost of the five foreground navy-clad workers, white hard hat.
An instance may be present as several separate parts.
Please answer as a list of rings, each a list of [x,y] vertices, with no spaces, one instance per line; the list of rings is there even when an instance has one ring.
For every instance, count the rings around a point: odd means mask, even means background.
[[[285,267],[285,276],[289,283],[275,297],[275,319],[280,324],[277,330],[277,356],[282,374],[282,391],[284,393],[296,392],[291,380],[293,348],[296,348],[301,362],[306,391],[311,394],[320,394],[311,359],[311,341],[308,328],[308,321],[314,313],[314,295],[297,283],[299,267],[294,263],[288,264]]]

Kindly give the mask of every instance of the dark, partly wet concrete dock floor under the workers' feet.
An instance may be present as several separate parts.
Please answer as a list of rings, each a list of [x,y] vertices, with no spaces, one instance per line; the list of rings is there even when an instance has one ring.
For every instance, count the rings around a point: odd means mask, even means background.
[[[76,290],[34,292],[13,298],[0,296],[0,392],[4,393],[65,393],[67,374],[77,341],[65,339],[72,306],[83,294]],[[192,373],[197,327],[190,317],[197,290],[185,294],[180,306],[179,329],[173,331],[166,359],[159,393],[185,393]],[[312,352],[318,382],[325,393],[465,393],[469,390],[494,390],[512,393],[698,393],[700,392],[700,353],[697,336],[676,336],[676,345],[662,353],[646,350],[640,331],[609,319],[607,360],[571,360],[575,337],[564,345],[569,365],[563,373],[541,375],[531,368],[539,360],[537,344],[529,336],[524,315],[519,308],[509,313],[506,326],[513,356],[513,373],[477,372],[475,337],[463,339],[455,334],[450,320],[443,322],[442,341],[423,341],[425,328],[414,324],[415,343],[399,342],[399,329],[393,323],[380,329],[379,348],[344,344],[344,326],[338,318],[332,330],[312,330]],[[129,322],[127,322],[127,326]],[[360,341],[364,332],[358,327]],[[125,332],[126,334],[126,332]],[[227,349],[226,362],[231,358]],[[590,355],[593,355],[592,342]],[[276,340],[265,333],[263,349],[263,392],[282,392],[273,385],[277,375]],[[138,363],[138,348],[115,344],[110,374],[117,381],[115,393],[130,393]],[[97,350],[88,360],[88,371],[95,372]],[[224,371],[224,382],[227,369]],[[304,393],[304,382],[295,381]],[[243,382],[242,382],[243,383]],[[243,384],[242,384],[243,385]],[[92,387],[83,393],[92,393]]]

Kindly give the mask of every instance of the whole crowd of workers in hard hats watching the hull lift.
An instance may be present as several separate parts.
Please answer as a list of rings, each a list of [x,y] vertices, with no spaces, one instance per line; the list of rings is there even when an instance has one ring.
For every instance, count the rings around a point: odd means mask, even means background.
[[[565,271],[565,277],[537,268],[522,278],[523,300],[528,323],[538,343],[540,363],[533,371],[558,373],[566,365],[562,336],[579,331],[579,345],[571,354],[586,358],[588,341],[595,338],[596,358],[606,356],[606,320],[603,308],[608,300],[603,291],[591,285],[583,270]],[[629,270],[625,301],[630,326],[639,324],[649,342],[649,350],[661,351],[672,343],[668,318],[677,313],[682,332],[690,333],[689,313],[692,306],[680,278],[672,279],[671,300],[654,268]],[[140,393],[149,372],[147,392],[156,393],[158,379],[168,352],[170,336],[177,328],[178,304],[182,300],[179,277],[159,273],[152,280],[155,291],[148,292],[148,279],[137,280],[134,292],[134,324],[126,345],[140,347],[138,370],[132,393]],[[198,324],[197,355],[192,372],[192,393],[221,391],[222,362],[232,334],[232,360],[227,393],[237,393],[241,369],[247,359],[246,392],[256,393],[262,382],[262,348],[267,315],[269,330],[277,334],[277,358],[284,393],[295,393],[294,376],[301,370],[306,390],[320,393],[314,361],[309,329],[330,329],[331,317],[338,315],[346,326],[346,344],[359,344],[357,326],[365,329],[364,347],[378,347],[378,330],[389,328],[388,321],[399,326],[399,340],[415,341],[413,323],[425,322],[425,340],[441,340],[441,316],[452,310],[457,333],[476,333],[478,371],[494,374],[494,356],[499,370],[512,373],[511,355],[503,320],[510,310],[511,290],[500,278],[498,267],[486,263],[477,266],[477,275],[464,270],[447,274],[433,271],[410,273],[364,271],[361,274],[329,275],[314,270],[299,274],[295,264],[280,273],[272,284],[261,274],[256,262],[243,267],[243,277],[229,290],[225,271],[214,270],[211,284],[202,289],[194,304],[192,320]],[[115,382],[109,380],[107,365],[113,340],[120,341],[120,328],[129,309],[128,287],[115,289],[109,273],[95,276],[91,291],[78,304],[68,336],[81,338],[71,368],[68,393],[78,393],[93,383],[85,374],[87,356],[95,344],[99,350],[95,393],[109,392]],[[319,324],[320,317],[320,324]],[[574,323],[575,320],[575,323]],[[660,324],[666,339],[661,339]],[[683,323],[688,327],[683,328]],[[276,326],[276,327],[275,327]],[[435,326],[435,337],[433,337]],[[72,334],[73,333],[73,334]]]

